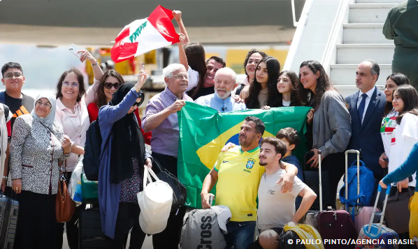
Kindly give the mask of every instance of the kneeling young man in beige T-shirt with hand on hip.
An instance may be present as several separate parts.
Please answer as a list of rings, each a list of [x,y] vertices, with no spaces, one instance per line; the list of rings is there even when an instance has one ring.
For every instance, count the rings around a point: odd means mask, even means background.
[[[261,141],[259,162],[266,168],[261,176],[259,186],[258,229],[259,239],[250,248],[277,249],[280,234],[284,225],[294,222],[305,215],[310,209],[317,195],[295,177],[294,186],[290,192],[282,193],[281,184],[276,183],[286,172],[280,167],[282,156],[286,154],[287,147],[276,137],[266,137]],[[301,206],[295,213],[295,199],[303,197]]]

